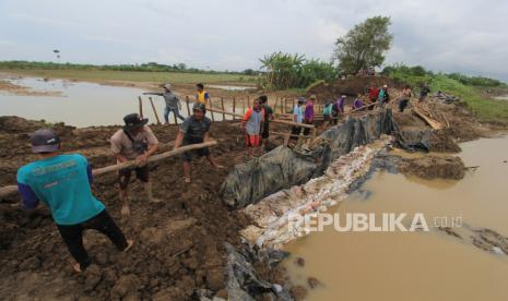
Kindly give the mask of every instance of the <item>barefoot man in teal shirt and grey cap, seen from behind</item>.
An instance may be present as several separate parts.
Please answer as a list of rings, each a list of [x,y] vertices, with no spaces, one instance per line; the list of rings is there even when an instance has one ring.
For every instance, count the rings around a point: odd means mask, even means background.
[[[42,201],[48,206],[57,228],[76,263],[75,272],[85,270],[91,260],[83,246],[83,231],[94,229],[107,236],[119,251],[128,251],[127,240],[92,194],[92,167],[79,154],[60,154],[60,139],[48,129],[36,131],[31,139],[32,150],[39,160],[17,170],[17,189],[25,208],[35,208]]]

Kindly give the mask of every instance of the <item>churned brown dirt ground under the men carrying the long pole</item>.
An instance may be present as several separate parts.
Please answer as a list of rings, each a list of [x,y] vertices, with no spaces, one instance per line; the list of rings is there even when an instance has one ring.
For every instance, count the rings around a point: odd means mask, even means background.
[[[44,124],[7,117],[0,123],[0,184],[14,184],[16,168],[35,159],[28,134]],[[64,152],[86,153],[94,167],[115,162],[107,140],[118,127],[55,128]],[[177,132],[175,127],[152,129],[162,143],[173,141]],[[164,200],[161,204],[145,202],[139,182],[132,180],[130,220],[120,218],[116,176],[97,178],[95,195],[137,244],[129,253],[118,253],[107,239],[87,232],[85,246],[94,265],[83,275],[71,272],[72,261],[47,209],[27,213],[19,208],[19,196],[1,200],[0,299],[187,300],[199,289],[209,297],[227,298],[224,243],[238,245],[238,231],[249,225],[246,216],[226,207],[216,193],[234,165],[246,159],[234,123],[212,125],[211,134],[220,142],[212,153],[226,168],[217,171],[205,160],[197,160],[191,184],[182,181],[179,158],[153,165],[154,194]],[[280,275],[275,269],[264,274],[270,278],[271,273]]]

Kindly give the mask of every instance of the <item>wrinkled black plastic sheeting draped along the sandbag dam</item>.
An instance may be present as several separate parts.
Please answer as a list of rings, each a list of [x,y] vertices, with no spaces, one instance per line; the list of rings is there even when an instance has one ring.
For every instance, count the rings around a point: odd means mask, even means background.
[[[340,156],[397,131],[390,109],[348,118],[343,124],[322,133],[320,143],[300,153],[286,146],[235,167],[221,186],[223,201],[235,208],[255,204],[261,198],[323,174]]]

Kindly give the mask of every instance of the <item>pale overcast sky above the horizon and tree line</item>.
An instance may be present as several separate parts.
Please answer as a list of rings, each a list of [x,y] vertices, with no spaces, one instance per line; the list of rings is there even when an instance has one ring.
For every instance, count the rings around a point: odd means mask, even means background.
[[[365,19],[391,16],[387,64],[508,81],[508,1],[0,0],[0,60],[258,69],[272,51],[328,60]]]

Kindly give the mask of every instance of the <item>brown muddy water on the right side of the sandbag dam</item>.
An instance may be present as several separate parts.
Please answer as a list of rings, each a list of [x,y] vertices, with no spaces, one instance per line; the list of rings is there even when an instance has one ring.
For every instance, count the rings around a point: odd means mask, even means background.
[[[377,172],[331,213],[423,213],[428,226],[463,224],[508,236],[508,137],[461,145],[461,181],[423,181]],[[447,217],[447,219],[434,217]],[[441,220],[441,221],[439,221]],[[429,232],[338,232],[327,227],[287,245],[297,284],[321,282],[307,300],[506,300],[508,260]],[[305,258],[305,266],[294,264]]]

